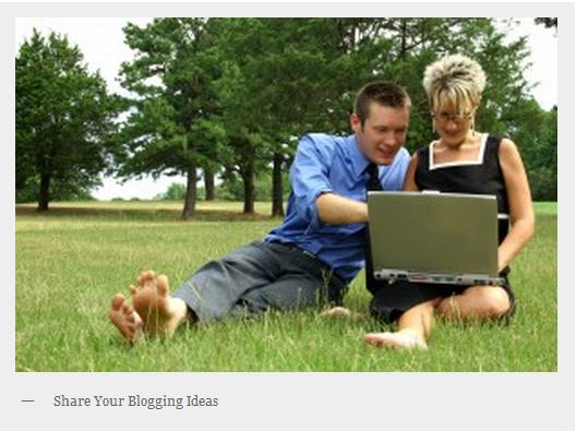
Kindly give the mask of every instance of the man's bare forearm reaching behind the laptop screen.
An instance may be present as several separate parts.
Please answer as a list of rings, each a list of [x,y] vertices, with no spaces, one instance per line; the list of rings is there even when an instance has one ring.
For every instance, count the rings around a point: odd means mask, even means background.
[[[368,222],[365,202],[353,201],[335,193],[322,193],[316,199],[316,211],[323,223],[349,225]]]

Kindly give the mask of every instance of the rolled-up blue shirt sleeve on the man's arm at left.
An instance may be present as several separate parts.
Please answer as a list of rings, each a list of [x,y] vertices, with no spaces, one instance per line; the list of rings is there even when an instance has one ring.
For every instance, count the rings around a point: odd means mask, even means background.
[[[310,224],[309,228],[312,229],[321,224],[316,199],[321,193],[333,190],[329,181],[332,157],[329,145],[317,142],[311,135],[304,135],[298,144],[290,168],[296,211],[302,219]]]

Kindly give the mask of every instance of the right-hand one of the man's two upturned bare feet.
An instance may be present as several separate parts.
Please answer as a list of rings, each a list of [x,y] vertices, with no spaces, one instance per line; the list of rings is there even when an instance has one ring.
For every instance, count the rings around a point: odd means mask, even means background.
[[[143,331],[151,335],[172,335],[188,313],[180,298],[168,295],[168,277],[154,271],[140,274],[136,286],[130,286],[132,306],[142,318]]]

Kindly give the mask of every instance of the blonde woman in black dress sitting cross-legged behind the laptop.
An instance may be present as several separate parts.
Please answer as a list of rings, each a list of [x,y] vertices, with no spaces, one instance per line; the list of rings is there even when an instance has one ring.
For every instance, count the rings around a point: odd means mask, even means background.
[[[425,349],[434,313],[484,322],[507,319],[514,312],[508,264],[532,236],[535,217],[526,171],[514,142],[475,129],[484,84],[480,64],[461,55],[444,57],[427,68],[423,86],[439,139],[413,155],[404,189],[496,195],[499,218],[506,217],[499,226],[497,256],[505,283],[382,285],[374,292],[370,311],[383,322],[395,322],[397,331],[368,334],[365,339],[372,345]]]

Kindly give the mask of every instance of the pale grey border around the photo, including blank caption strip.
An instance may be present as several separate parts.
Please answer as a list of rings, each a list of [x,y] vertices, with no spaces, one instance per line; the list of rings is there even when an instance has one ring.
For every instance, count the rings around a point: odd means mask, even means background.
[[[2,4],[0,301],[1,403],[9,428],[101,430],[166,426],[219,430],[574,430],[574,7],[568,3]],[[14,52],[15,16],[559,16],[559,371],[556,373],[15,373]],[[553,287],[551,287],[553,288]],[[217,410],[56,410],[69,394],[206,394]],[[34,397],[35,404],[20,399]],[[411,400],[411,402],[410,402]]]

